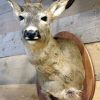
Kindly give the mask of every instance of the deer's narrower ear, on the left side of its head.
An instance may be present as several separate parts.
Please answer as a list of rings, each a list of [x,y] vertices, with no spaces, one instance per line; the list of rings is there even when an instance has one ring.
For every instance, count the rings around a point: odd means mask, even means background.
[[[13,8],[13,10],[14,10],[14,12],[15,12],[15,14],[16,14],[17,16],[19,16],[19,14],[20,14],[21,12],[24,11],[24,9],[23,9],[20,5],[18,5],[18,4],[15,2],[15,0],[8,0],[8,3],[9,3],[10,6]]]

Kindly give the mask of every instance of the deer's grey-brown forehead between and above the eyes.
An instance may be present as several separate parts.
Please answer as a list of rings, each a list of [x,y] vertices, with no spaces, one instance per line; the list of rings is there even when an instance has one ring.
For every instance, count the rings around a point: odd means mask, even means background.
[[[24,16],[30,23],[38,23],[42,17],[48,17],[47,12],[44,9],[40,9],[36,6],[25,6],[23,8],[24,11],[20,15]]]

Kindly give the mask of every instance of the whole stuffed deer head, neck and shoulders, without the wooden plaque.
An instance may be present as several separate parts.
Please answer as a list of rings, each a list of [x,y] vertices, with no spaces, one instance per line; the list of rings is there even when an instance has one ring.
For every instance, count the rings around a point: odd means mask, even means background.
[[[20,20],[26,53],[47,100],[81,100],[85,72],[80,51],[73,41],[54,39],[50,30],[50,23],[71,6],[70,1],[74,0],[57,0],[45,8],[31,0],[23,6],[8,0]]]

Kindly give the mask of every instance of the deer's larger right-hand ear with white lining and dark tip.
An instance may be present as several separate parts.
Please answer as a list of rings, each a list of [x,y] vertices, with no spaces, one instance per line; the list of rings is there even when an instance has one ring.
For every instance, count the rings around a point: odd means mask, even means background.
[[[54,19],[56,17],[58,17],[59,15],[62,14],[62,12],[66,9],[69,8],[69,6],[71,6],[70,1],[74,1],[74,0],[57,0],[56,2],[54,2],[49,8],[48,8],[48,12],[51,13],[51,17]]]

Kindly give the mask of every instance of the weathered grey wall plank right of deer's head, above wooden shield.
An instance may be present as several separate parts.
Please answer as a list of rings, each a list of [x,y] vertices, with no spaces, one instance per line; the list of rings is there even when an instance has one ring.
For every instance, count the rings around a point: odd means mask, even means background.
[[[54,33],[69,31],[84,43],[100,41],[100,9],[58,19],[53,24]]]

